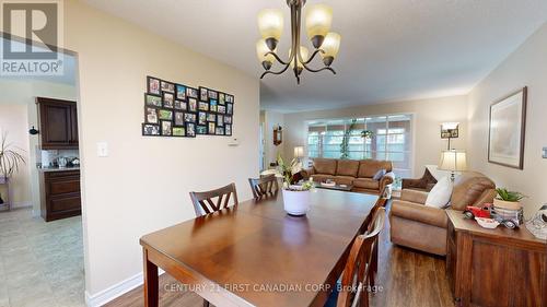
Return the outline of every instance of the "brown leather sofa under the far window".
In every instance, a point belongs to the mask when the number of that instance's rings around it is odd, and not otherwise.
[[[338,185],[353,186],[351,191],[380,193],[395,178],[392,168],[391,161],[314,158],[313,167],[305,172],[316,182],[331,179]],[[372,179],[381,169],[385,169],[385,175],[380,180]]]

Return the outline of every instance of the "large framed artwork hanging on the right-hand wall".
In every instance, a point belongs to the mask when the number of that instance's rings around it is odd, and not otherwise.
[[[524,168],[527,87],[490,106],[488,162]]]

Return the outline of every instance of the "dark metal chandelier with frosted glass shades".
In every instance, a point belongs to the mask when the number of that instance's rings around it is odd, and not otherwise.
[[[287,0],[287,4],[291,9],[291,48],[289,49],[289,59],[282,60],[277,51],[277,45],[283,32],[283,13],[281,10],[268,9],[263,10],[258,14],[258,28],[263,36],[256,43],[256,54],[263,68],[266,70],[260,79],[267,74],[281,74],[289,67],[294,72],[296,83],[300,84],[300,74],[305,69],[310,72],[319,72],[328,70],[336,74],[336,71],[330,68],[338,49],[340,47],[340,35],[329,32],[333,23],[333,10],[325,4],[314,4],[306,8],[305,11],[305,28],[307,37],[312,42],[314,51],[309,57],[310,51],[306,47],[300,45],[300,29],[302,22],[302,8],[306,0]],[[323,68],[313,69],[309,64],[317,56],[323,58]],[[278,61],[282,64],[279,71],[270,70],[274,62]]]

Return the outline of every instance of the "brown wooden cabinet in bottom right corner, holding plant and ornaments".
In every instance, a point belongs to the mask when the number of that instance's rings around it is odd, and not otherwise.
[[[480,227],[449,215],[446,271],[459,306],[547,306],[547,243],[524,226]]]

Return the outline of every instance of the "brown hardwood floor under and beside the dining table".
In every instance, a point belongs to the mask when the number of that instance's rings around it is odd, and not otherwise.
[[[176,281],[167,274],[160,278],[160,306],[201,307],[202,299],[184,291],[166,291]],[[453,307],[453,297],[445,275],[444,258],[398,247],[389,241],[389,223],[381,234],[379,275],[381,290],[371,295],[371,306]],[[181,288],[181,287],[179,287]],[[108,307],[143,306],[142,287],[117,299]]]

